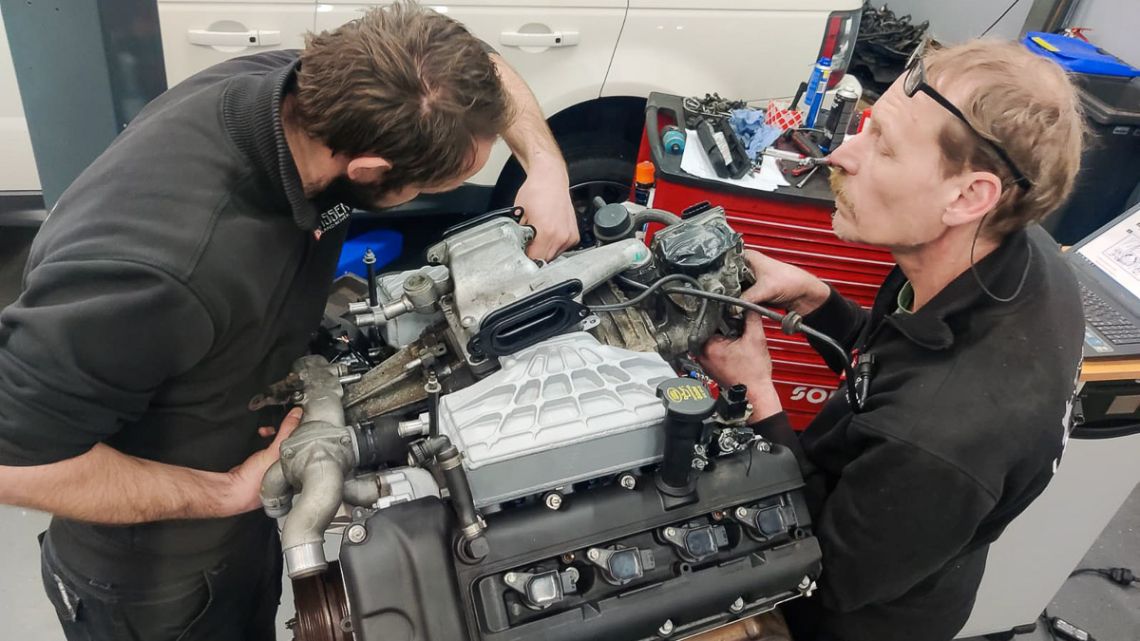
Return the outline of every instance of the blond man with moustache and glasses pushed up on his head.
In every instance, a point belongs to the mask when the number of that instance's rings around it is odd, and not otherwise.
[[[952,639],[988,545],[1056,471],[1084,323],[1056,244],[1027,227],[1068,196],[1082,129],[1065,73],[1017,44],[919,54],[830,157],[836,234],[898,263],[872,309],[750,254],[746,298],[801,315],[869,373],[857,407],[833,395],[797,439],[755,315],[705,349],[805,470],[823,575],[789,611],[797,641]]]

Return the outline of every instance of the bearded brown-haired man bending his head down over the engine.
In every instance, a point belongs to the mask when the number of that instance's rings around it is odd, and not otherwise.
[[[246,404],[306,351],[353,206],[478,171],[499,135],[549,258],[576,240],[534,97],[454,21],[373,9],[303,52],[152,102],[63,194],[0,313],[0,502],[51,512],[43,583],[70,640],[272,639],[259,486],[296,413]]]

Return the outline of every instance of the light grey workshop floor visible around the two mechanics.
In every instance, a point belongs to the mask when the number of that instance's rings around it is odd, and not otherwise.
[[[18,294],[26,244],[31,233],[0,229],[0,308]],[[1140,464],[1140,462],[1138,462]],[[1064,519],[1065,514],[1058,514]],[[48,522],[46,514],[0,506],[0,638],[22,641],[63,641],[51,606],[40,582],[35,535]],[[1123,566],[1140,573],[1140,488],[1134,490],[1081,567]],[[1026,577],[1032,581],[1032,577]],[[279,639],[287,640],[284,622],[292,616],[287,592],[278,616]],[[1070,579],[1054,597],[1049,612],[1086,630],[1097,641],[1140,641],[1140,587],[1123,589],[1102,578]],[[1025,641],[1049,641],[1042,627]],[[915,640],[920,641],[920,640]],[[971,640],[980,641],[980,640]]]

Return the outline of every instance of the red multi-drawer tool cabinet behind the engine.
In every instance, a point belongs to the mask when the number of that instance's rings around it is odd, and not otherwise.
[[[833,201],[824,171],[816,172],[803,188],[781,187],[775,192],[693,177],[681,170],[679,155],[666,154],[661,147],[661,128],[683,121],[679,97],[650,95],[637,160],[651,160],[656,167],[654,208],[679,213],[702,201],[720,205],[732,228],[743,235],[748,249],[803,267],[845,297],[871,306],[894,261],[885,250],[834,236]],[[767,320],[765,326],[776,392],[792,427],[804,429],[838,389],[839,378],[803,336],[789,336]]]

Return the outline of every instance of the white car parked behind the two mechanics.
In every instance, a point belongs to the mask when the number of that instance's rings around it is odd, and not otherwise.
[[[351,0],[158,0],[166,80],[234,56],[301,48],[372,3]],[[861,0],[454,0],[431,5],[494,46],[527,80],[565,155],[576,202],[628,192],[651,91],[790,96],[821,55],[845,70]],[[38,192],[16,78],[0,29],[0,194]],[[841,73],[832,75],[838,81]],[[513,200],[522,171],[499,144],[459,194]],[[473,200],[475,197],[483,200]],[[453,196],[455,197],[455,196]],[[451,201],[453,203],[455,201]],[[2,206],[2,205],[0,205]]]

